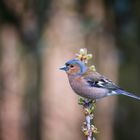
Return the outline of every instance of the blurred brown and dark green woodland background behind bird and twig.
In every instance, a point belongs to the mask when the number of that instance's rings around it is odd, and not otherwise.
[[[79,48],[140,96],[139,0],[0,0],[0,140],[85,140],[78,96],[59,71]],[[140,102],[97,103],[98,140],[140,140]]]

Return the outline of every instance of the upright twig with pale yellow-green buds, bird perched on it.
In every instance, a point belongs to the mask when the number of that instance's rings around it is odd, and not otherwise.
[[[86,48],[80,49],[79,53],[76,54],[76,58],[84,62],[86,65],[88,60],[92,58],[92,54],[87,53]],[[91,65],[88,67],[91,71],[96,71],[95,66]],[[85,121],[82,125],[82,132],[87,137],[87,140],[95,140],[95,135],[99,132],[93,123],[96,101],[79,96],[78,103],[83,106]]]

